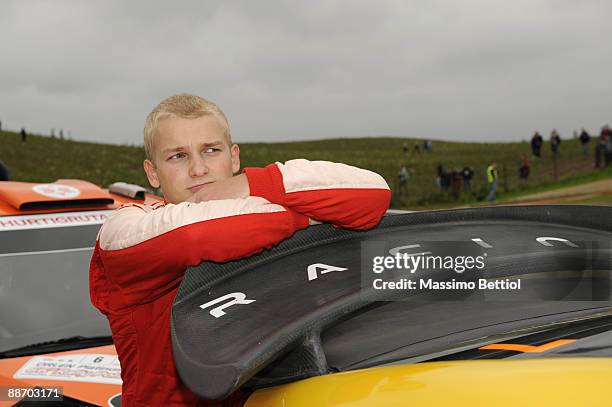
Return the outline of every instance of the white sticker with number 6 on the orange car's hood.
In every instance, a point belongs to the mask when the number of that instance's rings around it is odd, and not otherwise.
[[[117,355],[91,353],[34,356],[15,373],[13,378],[103,384],[122,383],[121,366]]]

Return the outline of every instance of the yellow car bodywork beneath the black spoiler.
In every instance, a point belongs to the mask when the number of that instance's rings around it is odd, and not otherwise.
[[[337,373],[256,391],[245,407],[600,406],[612,358],[428,362]]]

